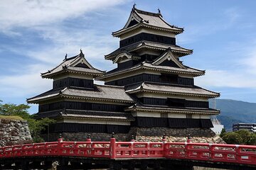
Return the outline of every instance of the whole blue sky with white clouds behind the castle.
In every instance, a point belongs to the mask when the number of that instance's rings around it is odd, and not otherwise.
[[[196,85],[221,93],[220,98],[256,102],[256,1],[0,1],[0,99],[26,103],[51,89],[41,72],[55,67],[65,53],[82,48],[96,68],[115,67],[104,55],[115,50],[111,33],[124,26],[134,2],[185,29],[176,42],[193,49],[183,63],[206,69]],[[37,110],[31,105],[31,113]]]

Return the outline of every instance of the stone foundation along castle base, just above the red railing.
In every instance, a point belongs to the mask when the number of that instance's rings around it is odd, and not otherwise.
[[[86,141],[87,135],[85,132],[63,132],[61,136],[65,141]],[[114,134],[117,141],[130,141],[132,135],[135,140],[142,142],[161,142],[163,134],[166,135],[167,142],[186,142],[188,135],[191,135],[192,142],[203,143],[225,143],[220,137],[210,129],[203,128],[131,128],[129,133]],[[43,138],[48,141],[57,141],[59,133],[52,133],[43,135]],[[92,141],[110,141],[112,134],[110,133],[90,133]]]

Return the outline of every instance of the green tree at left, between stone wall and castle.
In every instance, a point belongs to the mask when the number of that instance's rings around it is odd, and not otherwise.
[[[41,131],[45,130],[46,126],[50,123],[54,123],[55,120],[49,118],[35,119],[35,115],[28,113],[28,108],[30,106],[27,104],[0,103],[0,115],[18,115],[24,120],[27,120],[33,142],[43,142]]]

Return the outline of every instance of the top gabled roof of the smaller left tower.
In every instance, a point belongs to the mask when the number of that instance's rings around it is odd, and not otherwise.
[[[99,77],[104,74],[101,70],[92,67],[92,65],[85,59],[85,55],[82,53],[82,50],[80,50],[80,54],[74,57],[67,58],[66,55],[63,62],[61,62],[57,67],[48,70],[48,72],[41,73],[41,77],[51,79],[64,72],[89,74],[93,77]]]

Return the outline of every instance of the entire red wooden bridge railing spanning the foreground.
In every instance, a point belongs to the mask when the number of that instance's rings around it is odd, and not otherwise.
[[[0,159],[37,156],[191,159],[256,165],[256,146],[188,142],[58,142],[0,147]]]

